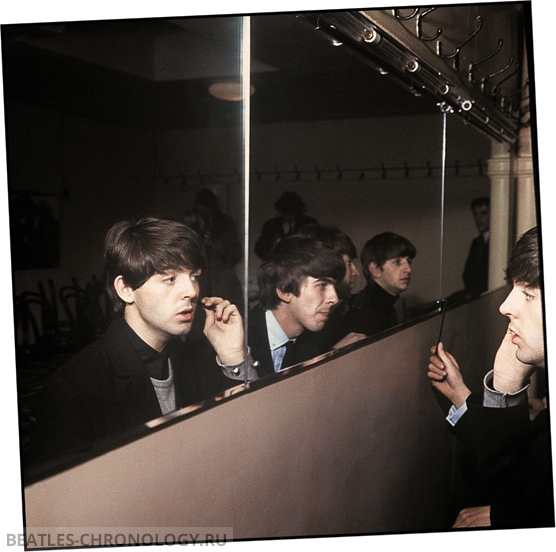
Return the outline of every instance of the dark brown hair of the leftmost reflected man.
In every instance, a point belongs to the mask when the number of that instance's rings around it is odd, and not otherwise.
[[[202,270],[205,248],[199,236],[174,220],[144,218],[114,224],[104,240],[105,281],[114,315],[122,316],[125,302],[114,288],[123,276],[133,289],[140,288],[154,274],[170,269]]]

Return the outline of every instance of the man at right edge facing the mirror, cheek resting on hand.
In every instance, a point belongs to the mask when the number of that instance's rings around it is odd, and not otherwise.
[[[482,390],[471,392],[442,343],[431,348],[428,377],[452,403],[449,428],[474,458],[484,497],[460,511],[454,528],[554,527],[548,403],[532,416],[527,392],[533,373],[545,379],[547,368],[536,228],[514,246],[506,278],[508,329]]]

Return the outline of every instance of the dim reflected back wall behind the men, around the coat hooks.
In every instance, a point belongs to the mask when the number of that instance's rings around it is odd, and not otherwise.
[[[406,302],[411,305],[438,298],[442,133],[440,113],[254,126],[250,158],[250,271],[254,272],[259,263],[252,245],[263,223],[276,215],[275,200],[284,190],[294,190],[307,203],[309,214],[322,224],[339,226],[352,238],[358,251],[373,235],[386,230],[409,238],[418,255]],[[489,193],[485,167],[490,154],[489,140],[464,126],[455,115],[448,118],[447,137],[444,245],[447,268],[443,295],[462,287],[461,272],[476,234],[469,203],[474,197]],[[204,175],[203,185],[212,186],[221,195],[224,210],[234,216],[238,226],[243,219],[241,188],[234,178],[219,175],[241,171],[239,138],[234,129],[164,133],[159,136],[157,156],[158,170],[163,174]],[[479,160],[485,164],[482,175]],[[461,167],[458,176],[453,168],[456,161]],[[466,168],[468,164],[473,166]],[[386,167],[386,178],[380,171],[382,165]],[[410,168],[407,177],[405,165]],[[431,176],[429,165],[433,168]],[[414,167],[422,169],[412,170]],[[299,180],[296,169],[301,174]],[[178,198],[174,205],[181,206],[191,202],[200,185],[200,177],[187,180],[185,185],[175,178],[165,189],[159,189],[158,196]]]

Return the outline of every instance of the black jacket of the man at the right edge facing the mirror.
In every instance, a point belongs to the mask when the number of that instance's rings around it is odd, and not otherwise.
[[[529,405],[482,406],[482,393],[467,400],[468,410],[453,432],[472,453],[479,484],[491,505],[493,528],[554,527],[554,490],[548,412],[529,421]]]

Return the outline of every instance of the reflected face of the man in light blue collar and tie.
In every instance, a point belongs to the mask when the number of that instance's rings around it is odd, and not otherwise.
[[[300,287],[299,296],[289,295],[287,304],[288,337],[296,337],[303,330],[322,330],[330,309],[338,302],[335,282],[332,279],[317,279],[307,276]],[[290,333],[296,335],[290,335]]]

